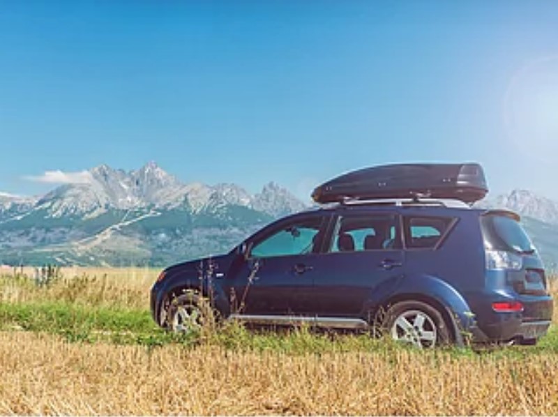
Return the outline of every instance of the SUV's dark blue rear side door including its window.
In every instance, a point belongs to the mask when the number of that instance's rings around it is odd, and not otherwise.
[[[335,218],[315,275],[313,306],[322,317],[359,317],[378,285],[402,277],[396,213],[356,211]]]

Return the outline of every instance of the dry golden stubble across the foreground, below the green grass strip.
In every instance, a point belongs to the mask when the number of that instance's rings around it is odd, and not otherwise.
[[[154,351],[0,334],[0,414],[558,414],[558,357]]]

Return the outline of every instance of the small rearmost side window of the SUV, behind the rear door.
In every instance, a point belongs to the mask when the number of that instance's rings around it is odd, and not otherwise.
[[[435,248],[452,221],[453,218],[406,216],[403,225],[407,248]]]

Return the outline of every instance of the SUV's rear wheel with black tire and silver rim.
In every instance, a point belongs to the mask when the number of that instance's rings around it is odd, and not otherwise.
[[[400,342],[428,349],[451,344],[442,313],[421,301],[401,301],[386,312],[384,331]]]

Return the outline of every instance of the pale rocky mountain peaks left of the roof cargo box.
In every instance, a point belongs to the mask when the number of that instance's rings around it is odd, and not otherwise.
[[[140,169],[126,172],[99,165],[87,171],[86,183],[66,184],[52,190],[38,201],[38,208],[52,217],[86,215],[88,218],[107,210],[137,208],[190,208],[194,213],[214,211],[236,205],[253,208],[273,216],[293,213],[306,208],[285,188],[268,183],[257,195],[233,183],[206,185],[181,183],[176,177],[148,162]]]

